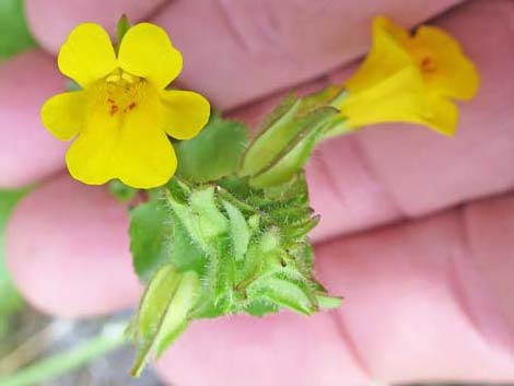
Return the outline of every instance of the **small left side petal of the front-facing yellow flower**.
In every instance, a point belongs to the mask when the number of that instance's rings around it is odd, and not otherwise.
[[[72,139],[82,128],[85,103],[83,91],[50,97],[42,107],[43,126],[60,140]]]

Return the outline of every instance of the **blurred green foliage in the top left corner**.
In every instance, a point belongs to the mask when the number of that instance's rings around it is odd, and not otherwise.
[[[22,0],[0,1],[0,59],[36,46],[23,13]]]

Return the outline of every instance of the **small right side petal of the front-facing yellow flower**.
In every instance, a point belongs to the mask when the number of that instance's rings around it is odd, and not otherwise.
[[[161,93],[164,106],[166,132],[176,139],[190,139],[207,125],[210,115],[209,102],[191,91],[164,91]]]

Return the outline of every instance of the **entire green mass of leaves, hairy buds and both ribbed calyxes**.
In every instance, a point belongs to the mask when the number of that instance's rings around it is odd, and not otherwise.
[[[129,329],[139,346],[132,374],[195,319],[340,305],[313,276],[307,235],[319,219],[303,173],[340,124],[327,101],[288,98],[249,144],[244,125],[215,114],[175,143],[176,176],[130,212],[133,266],[147,283]]]

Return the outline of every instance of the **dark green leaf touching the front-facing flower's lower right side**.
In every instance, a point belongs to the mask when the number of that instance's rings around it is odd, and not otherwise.
[[[247,142],[243,124],[213,115],[191,140],[176,144],[177,175],[192,183],[206,183],[234,173]]]

